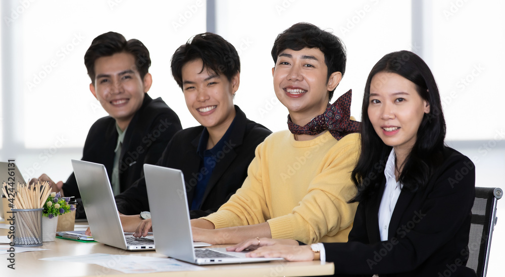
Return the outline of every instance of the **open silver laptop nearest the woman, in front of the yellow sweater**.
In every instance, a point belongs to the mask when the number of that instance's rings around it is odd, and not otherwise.
[[[225,248],[193,248],[189,208],[180,170],[144,164],[156,252],[194,263],[246,263],[282,260],[282,258],[249,258],[245,252],[227,252]]]

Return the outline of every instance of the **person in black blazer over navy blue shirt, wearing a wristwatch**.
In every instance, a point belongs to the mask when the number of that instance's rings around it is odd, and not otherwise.
[[[157,164],[183,172],[190,217],[198,218],[216,211],[242,186],[256,146],[271,132],[248,120],[233,104],[240,60],[233,45],[221,36],[194,36],[175,51],[171,67],[189,112],[201,126],[175,134]],[[139,227],[146,234],[150,219],[139,216],[149,209],[145,179],[118,195],[116,203],[124,213],[124,231]]]

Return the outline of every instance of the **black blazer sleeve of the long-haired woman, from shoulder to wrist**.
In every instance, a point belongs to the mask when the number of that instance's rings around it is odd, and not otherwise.
[[[324,243],[326,261],[334,262],[335,273],[408,272],[440,251],[462,228],[475,197],[475,167],[468,157],[461,154],[449,157],[443,168],[427,187],[431,191],[412,217],[412,224],[398,228],[388,241],[368,244],[359,239],[363,231],[357,229],[351,232],[354,241]],[[458,174],[462,169],[468,170],[468,174],[461,179]],[[360,226],[363,221],[358,219],[355,228]]]

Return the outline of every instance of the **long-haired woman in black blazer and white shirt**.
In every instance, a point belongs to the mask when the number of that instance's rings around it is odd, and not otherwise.
[[[352,172],[359,201],[346,243],[298,246],[249,240],[249,256],[333,262],[335,275],[475,276],[467,268],[475,166],[444,145],[445,120],[434,77],[410,51],[372,69],[362,110],[361,154]],[[265,246],[265,247],[263,247]]]

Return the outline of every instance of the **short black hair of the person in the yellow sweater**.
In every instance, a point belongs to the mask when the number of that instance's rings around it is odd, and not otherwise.
[[[340,72],[342,76],[344,75],[347,54],[343,42],[334,34],[306,22],[296,23],[277,36],[272,47],[274,63],[277,63],[277,57],[283,50],[299,51],[306,47],[319,48],[323,52],[324,62],[328,68],[326,82],[333,72]],[[328,99],[333,97],[333,91],[329,91]]]

